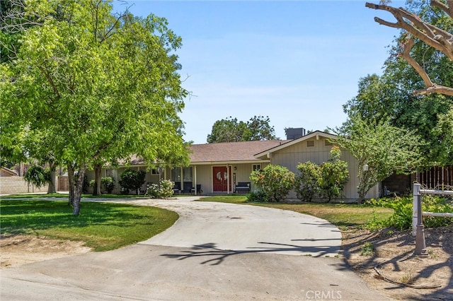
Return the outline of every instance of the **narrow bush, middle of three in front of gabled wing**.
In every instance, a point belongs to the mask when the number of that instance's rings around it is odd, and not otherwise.
[[[311,201],[313,196],[319,192],[319,182],[321,180],[321,168],[316,163],[307,161],[297,165],[294,190],[297,198],[302,201]]]

